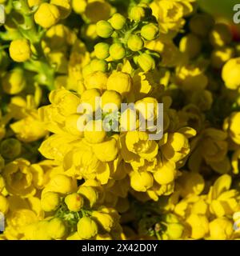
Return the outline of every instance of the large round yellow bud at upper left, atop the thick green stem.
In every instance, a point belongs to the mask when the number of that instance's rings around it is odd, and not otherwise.
[[[42,2],[34,14],[35,22],[46,29],[54,26],[60,18],[58,7],[47,2]]]

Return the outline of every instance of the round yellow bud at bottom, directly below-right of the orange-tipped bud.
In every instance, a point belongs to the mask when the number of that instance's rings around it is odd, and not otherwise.
[[[98,234],[98,226],[89,217],[83,217],[78,222],[78,235],[82,239],[90,239]]]

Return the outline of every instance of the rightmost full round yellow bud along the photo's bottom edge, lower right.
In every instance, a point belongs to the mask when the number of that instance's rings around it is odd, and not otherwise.
[[[210,222],[210,239],[226,240],[230,239],[234,232],[233,223],[228,218],[215,218]]]

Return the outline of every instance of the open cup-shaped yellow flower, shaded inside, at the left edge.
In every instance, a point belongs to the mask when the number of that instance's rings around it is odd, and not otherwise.
[[[2,176],[6,181],[6,189],[15,195],[29,197],[36,193],[30,162],[17,159],[4,167]]]

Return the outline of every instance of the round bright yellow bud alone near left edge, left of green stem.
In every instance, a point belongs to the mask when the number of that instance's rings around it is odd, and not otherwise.
[[[16,39],[10,43],[10,58],[15,62],[26,62],[30,59],[30,43],[26,39]]]

